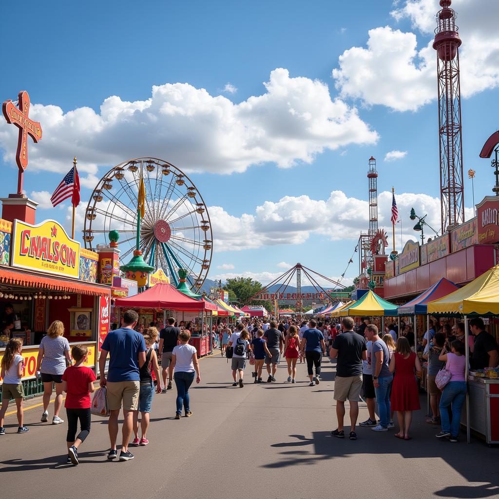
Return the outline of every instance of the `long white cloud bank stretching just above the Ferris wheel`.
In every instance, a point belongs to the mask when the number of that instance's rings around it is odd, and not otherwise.
[[[99,112],[32,104],[30,116],[41,122],[43,139],[29,145],[31,170],[65,172],[76,155],[81,184],[93,187],[98,166],[141,156],[187,172],[228,174],[264,162],[289,168],[311,163],[325,149],[378,140],[356,108],[332,98],[321,81],[278,68],[264,87],[239,104],[188,83],[153,86],[142,101],[111,96]],[[16,145],[17,128],[0,120],[5,162],[13,162]]]

